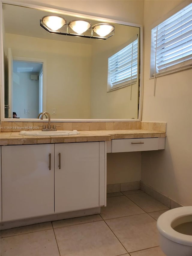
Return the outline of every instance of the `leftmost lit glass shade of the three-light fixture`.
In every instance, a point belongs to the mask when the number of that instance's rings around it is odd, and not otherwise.
[[[59,16],[45,16],[42,22],[51,30],[58,30],[66,24],[66,20]]]

